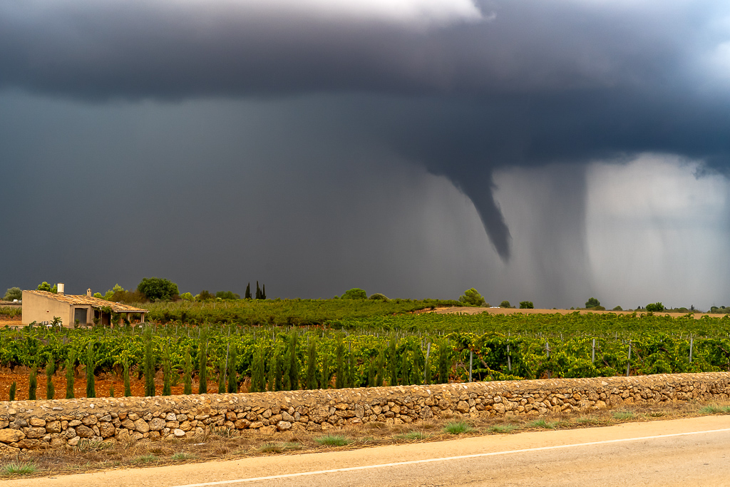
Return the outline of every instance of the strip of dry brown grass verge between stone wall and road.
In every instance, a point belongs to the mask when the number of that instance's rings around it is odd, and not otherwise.
[[[68,450],[37,450],[14,454],[12,462],[0,463],[0,478],[23,475],[33,478],[95,472],[110,468],[158,467],[181,462],[244,459],[265,455],[296,455],[331,448],[367,448],[407,442],[452,440],[458,434],[515,434],[549,429],[610,426],[636,421],[661,421],[691,418],[708,414],[730,413],[726,403],[652,404],[651,407],[622,407],[580,414],[556,413],[544,416],[508,415],[503,418],[431,418],[414,423],[364,423],[348,425],[328,432],[260,433],[255,430],[202,434],[180,440],[82,443]],[[216,431],[215,433],[218,433]],[[25,473],[16,473],[9,465],[28,464]],[[11,473],[11,470],[13,473]]]

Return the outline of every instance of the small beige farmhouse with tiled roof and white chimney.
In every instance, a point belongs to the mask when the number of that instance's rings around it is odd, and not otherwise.
[[[68,327],[76,323],[111,325],[112,313],[118,313],[120,320],[126,318],[134,323],[134,320],[139,319],[144,323],[147,310],[95,298],[91,296],[91,289],[86,291],[86,296],[64,294],[63,284],[58,284],[57,294],[48,291],[23,291],[23,325],[34,321],[50,323],[56,317],[61,318],[61,324]]]

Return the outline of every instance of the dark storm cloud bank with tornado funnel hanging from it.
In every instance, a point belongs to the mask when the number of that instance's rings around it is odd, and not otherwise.
[[[0,87],[94,102],[359,93],[343,119],[449,177],[505,259],[496,167],[647,150],[728,166],[726,2],[305,4],[7,1]]]

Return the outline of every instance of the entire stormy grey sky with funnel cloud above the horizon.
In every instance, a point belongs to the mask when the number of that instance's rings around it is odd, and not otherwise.
[[[0,45],[4,288],[730,304],[726,1],[8,0]]]

